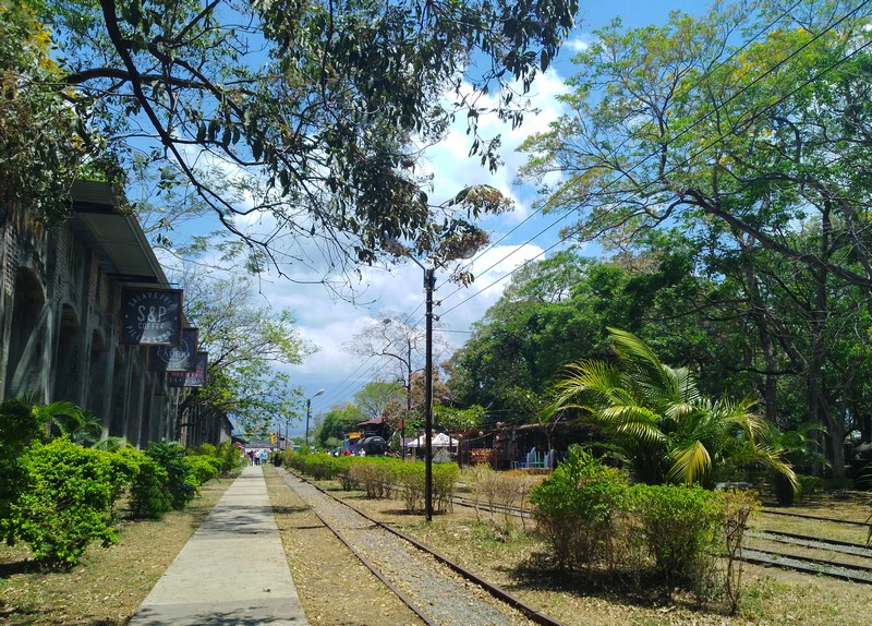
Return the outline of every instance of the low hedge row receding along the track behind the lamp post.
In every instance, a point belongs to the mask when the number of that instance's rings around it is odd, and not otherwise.
[[[391,457],[332,457],[323,453],[284,453],[282,462],[316,480],[339,480],[342,489],[361,489],[367,497],[393,497],[405,509],[419,513],[425,506],[426,469],[424,461],[403,461]],[[433,464],[433,509],[451,509],[460,469],[453,464]]]

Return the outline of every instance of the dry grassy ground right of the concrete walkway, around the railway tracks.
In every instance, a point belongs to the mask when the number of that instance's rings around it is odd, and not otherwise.
[[[368,570],[351,565],[348,550],[319,527],[317,518],[299,508],[299,499],[290,490],[271,478],[268,483],[274,504],[283,503],[281,506],[287,507],[287,511],[278,513],[277,520],[313,625],[415,623],[413,616],[403,617],[404,610],[391,601]],[[689,598],[658,603],[631,598],[621,589],[594,590],[581,578],[543,568],[536,555],[547,552],[547,546],[502,516],[479,517],[474,509],[456,506],[453,513],[437,516],[427,525],[421,516],[407,514],[398,501],[367,499],[361,493],[341,492],[329,482],[320,484],[566,625],[867,626],[867,615],[872,612],[872,594],[867,585],[753,565],[744,566],[744,594],[739,613],[732,616],[712,607],[701,609]],[[818,498],[790,510],[862,521],[868,517],[869,505],[864,498]],[[833,515],[833,510],[837,513]],[[772,526],[772,519],[777,518],[760,518],[763,526]],[[808,523],[797,527],[798,531],[809,530]],[[861,535],[864,539],[859,527],[850,534],[855,541],[860,541]],[[343,580],[341,586],[337,585],[339,579]]]

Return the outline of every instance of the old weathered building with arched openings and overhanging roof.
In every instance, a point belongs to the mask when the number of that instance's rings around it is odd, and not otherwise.
[[[137,447],[229,441],[219,414],[199,424],[201,441],[185,441],[194,431],[180,423],[180,389],[149,371],[147,346],[120,340],[122,289],[170,288],[136,217],[107,183],[80,181],[72,195],[53,228],[0,207],[0,400],[35,392],[72,401]]]

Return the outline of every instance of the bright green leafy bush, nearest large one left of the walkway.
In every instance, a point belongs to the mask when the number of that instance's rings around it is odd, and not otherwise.
[[[26,486],[12,504],[13,540],[37,561],[72,566],[92,541],[117,541],[114,505],[134,469],[120,455],[68,438],[35,443],[22,456]]]

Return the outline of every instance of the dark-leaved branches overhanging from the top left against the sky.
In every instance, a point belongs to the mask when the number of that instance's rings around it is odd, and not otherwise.
[[[501,209],[488,189],[432,206],[417,155],[465,113],[472,154],[495,167],[499,140],[479,134],[480,116],[521,123],[519,96],[554,59],[578,5],[218,0],[168,10],[160,0],[47,0],[39,9],[57,34],[58,92],[88,112],[86,139],[105,137],[121,170],[137,156],[161,164],[168,184],[190,185],[250,245],[255,265],[269,258],[281,272],[291,255],[308,258],[313,239],[334,264],[368,263],[385,241],[427,251],[475,230],[468,220],[480,212]],[[262,230],[246,226],[254,215]]]

